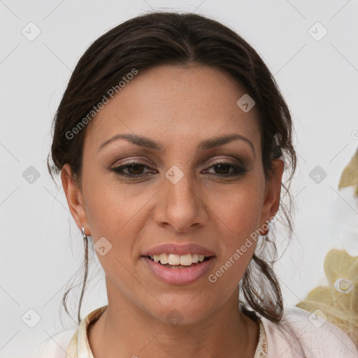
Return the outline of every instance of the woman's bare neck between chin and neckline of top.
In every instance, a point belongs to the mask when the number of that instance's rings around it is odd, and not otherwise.
[[[113,298],[113,297],[112,297]],[[159,322],[130,301],[110,299],[90,326],[94,358],[252,358],[259,326],[238,308],[238,292],[208,317],[187,324]]]

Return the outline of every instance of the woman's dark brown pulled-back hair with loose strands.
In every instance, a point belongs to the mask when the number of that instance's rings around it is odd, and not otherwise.
[[[78,131],[75,139],[69,139],[66,133],[76,127],[123,76],[133,69],[141,73],[161,64],[185,66],[192,63],[212,66],[228,73],[255,100],[265,179],[272,171],[272,159],[280,155],[285,158],[285,169],[290,169],[288,185],[281,183],[285,191],[283,196],[289,196],[289,207],[281,200],[280,209],[291,238],[292,199],[289,183],[296,169],[296,152],[292,145],[293,128],[289,109],[271,72],[252,46],[235,31],[202,15],[146,13],[110,29],[90,45],[72,73],[52,123],[53,141],[49,154],[52,165],[48,158],[51,176],[69,163],[73,178],[81,187],[85,128]],[[274,236],[275,233],[272,231],[271,234]],[[245,299],[243,309],[246,314],[258,313],[271,322],[280,322],[283,315],[282,295],[272,269],[277,250],[275,240],[268,236],[266,239],[266,245],[271,245],[272,255],[264,259],[256,252],[239,288]],[[78,322],[87,280],[87,255],[88,243],[85,241],[85,280],[78,307]],[[68,293],[69,290],[62,301],[67,313]]]

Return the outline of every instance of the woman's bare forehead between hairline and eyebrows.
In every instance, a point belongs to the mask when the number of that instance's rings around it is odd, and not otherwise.
[[[165,145],[194,145],[220,134],[250,138],[259,149],[255,107],[243,112],[245,94],[227,73],[208,66],[157,66],[138,71],[88,124],[85,146],[131,133]]]

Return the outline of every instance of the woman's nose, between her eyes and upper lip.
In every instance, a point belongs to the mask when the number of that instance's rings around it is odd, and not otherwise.
[[[205,198],[189,173],[173,183],[164,177],[157,196],[154,219],[160,227],[189,233],[208,220]]]

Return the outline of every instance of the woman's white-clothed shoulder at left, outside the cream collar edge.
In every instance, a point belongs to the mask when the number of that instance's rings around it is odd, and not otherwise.
[[[64,329],[41,341],[35,346],[34,356],[31,358],[66,358],[67,348],[77,330],[78,326]]]

